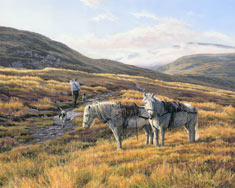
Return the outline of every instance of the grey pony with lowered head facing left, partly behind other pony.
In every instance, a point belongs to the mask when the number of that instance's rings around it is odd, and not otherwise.
[[[145,110],[142,109],[142,111]],[[122,148],[121,137],[123,132],[123,126],[126,121],[128,121],[127,128],[134,128],[137,125],[138,128],[144,128],[145,132],[147,133],[147,137],[153,137],[151,126],[148,121],[142,120],[144,118],[130,117],[126,119],[122,116],[120,103],[100,102],[86,106],[84,109],[82,126],[84,128],[91,127],[95,122],[95,118],[98,118],[99,120],[108,124],[109,128],[114,134],[115,139],[118,142],[118,148]]]

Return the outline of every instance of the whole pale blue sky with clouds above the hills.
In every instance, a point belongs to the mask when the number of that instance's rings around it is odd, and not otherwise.
[[[142,67],[235,52],[234,20],[234,0],[0,0],[0,26]]]

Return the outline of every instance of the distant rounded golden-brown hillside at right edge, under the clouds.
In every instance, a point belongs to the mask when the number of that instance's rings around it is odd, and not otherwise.
[[[157,68],[157,71],[235,89],[235,53],[184,56],[173,63]]]

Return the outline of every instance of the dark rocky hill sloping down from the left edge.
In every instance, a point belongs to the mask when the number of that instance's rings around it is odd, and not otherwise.
[[[0,27],[0,66],[27,69],[55,67],[93,73],[129,74],[163,80],[175,79],[156,71],[117,61],[91,59],[43,35],[9,27]]]

